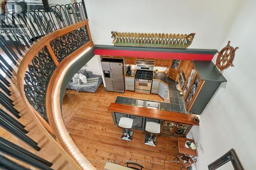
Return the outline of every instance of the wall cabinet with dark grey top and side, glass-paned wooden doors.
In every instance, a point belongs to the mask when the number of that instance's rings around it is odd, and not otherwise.
[[[192,61],[193,67],[183,89],[186,110],[201,114],[210,99],[226,79],[211,61]]]

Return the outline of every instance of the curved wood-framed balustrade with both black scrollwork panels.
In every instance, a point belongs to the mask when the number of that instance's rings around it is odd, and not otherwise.
[[[57,30],[37,42],[25,55],[19,68],[23,93],[35,114],[51,132],[46,111],[48,83],[55,68],[79,47],[92,43],[88,20]],[[21,72],[24,71],[24,72]],[[49,125],[47,125],[49,124]]]

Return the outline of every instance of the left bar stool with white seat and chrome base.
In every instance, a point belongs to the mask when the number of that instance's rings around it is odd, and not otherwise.
[[[133,119],[121,117],[118,126],[123,128],[121,139],[131,141],[133,138],[133,131],[130,129],[133,127]]]

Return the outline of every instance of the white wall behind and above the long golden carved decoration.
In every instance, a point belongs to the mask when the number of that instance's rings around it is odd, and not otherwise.
[[[196,33],[191,48],[219,49],[240,1],[85,0],[85,2],[95,44],[112,44],[111,31]]]

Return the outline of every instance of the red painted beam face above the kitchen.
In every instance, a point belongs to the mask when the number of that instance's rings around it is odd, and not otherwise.
[[[159,59],[179,59],[179,60],[202,60],[211,61],[212,54],[195,54],[195,53],[168,53],[168,52],[150,52],[150,51],[131,51],[131,50],[108,50],[94,49],[95,55],[106,56],[125,56],[125,57],[142,57],[142,58],[159,58]]]

